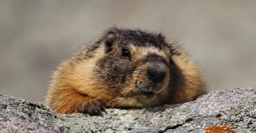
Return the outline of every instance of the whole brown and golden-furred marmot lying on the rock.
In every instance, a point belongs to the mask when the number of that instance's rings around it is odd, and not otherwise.
[[[59,64],[46,104],[59,114],[102,114],[194,101],[207,93],[197,63],[160,32],[110,27]]]

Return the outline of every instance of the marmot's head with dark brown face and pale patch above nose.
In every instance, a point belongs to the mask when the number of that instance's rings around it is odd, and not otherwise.
[[[167,95],[167,88],[180,76],[171,45],[162,34],[114,27],[87,47],[81,58],[91,60],[79,75],[90,76],[95,87],[91,95],[107,90],[104,95],[150,101]],[[87,69],[93,72],[85,74]]]

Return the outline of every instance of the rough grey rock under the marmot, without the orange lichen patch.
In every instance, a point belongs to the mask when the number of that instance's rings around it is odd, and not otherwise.
[[[0,133],[203,133],[215,124],[236,126],[235,133],[256,131],[251,88],[211,91],[179,105],[106,111],[93,117],[61,115],[42,103],[0,94]]]

